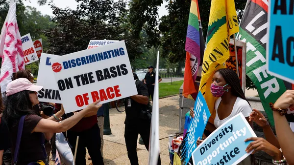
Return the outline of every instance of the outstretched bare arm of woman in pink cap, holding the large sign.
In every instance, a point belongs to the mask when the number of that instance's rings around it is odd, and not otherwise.
[[[32,132],[44,132],[44,133],[46,133],[46,132],[56,132],[56,133],[57,132],[65,132],[68,129],[70,129],[71,127],[73,127],[75,124],[77,124],[78,121],[80,121],[88,113],[93,113],[93,111],[95,111],[97,113],[98,109],[102,106],[102,104],[96,105],[99,102],[100,101],[97,101],[95,103],[91,103],[85,109],[77,112],[72,117],[70,117],[60,123],[53,122],[48,119],[41,119],[40,122],[35,126],[35,128],[33,129]]]

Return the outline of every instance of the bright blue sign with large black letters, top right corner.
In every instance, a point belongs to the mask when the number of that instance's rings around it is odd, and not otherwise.
[[[294,30],[289,24],[294,20],[293,1],[270,0],[269,2],[268,73],[294,83]],[[274,81],[270,83],[273,84]]]

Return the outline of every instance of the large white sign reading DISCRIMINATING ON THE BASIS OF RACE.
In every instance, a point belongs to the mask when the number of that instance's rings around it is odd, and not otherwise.
[[[66,113],[137,95],[124,41],[51,59]]]

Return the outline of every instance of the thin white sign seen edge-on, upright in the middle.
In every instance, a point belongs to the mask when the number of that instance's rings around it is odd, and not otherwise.
[[[152,107],[151,129],[150,129],[150,143],[149,143],[149,164],[157,165],[159,156],[159,91],[158,91],[158,70],[159,70],[159,51],[157,53],[154,97]]]

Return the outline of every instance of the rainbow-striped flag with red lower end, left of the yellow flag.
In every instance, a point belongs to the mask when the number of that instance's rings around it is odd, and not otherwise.
[[[204,40],[197,0],[191,1],[185,50],[187,53],[183,95],[195,100],[201,77],[198,68],[202,65],[201,59],[204,54]]]

